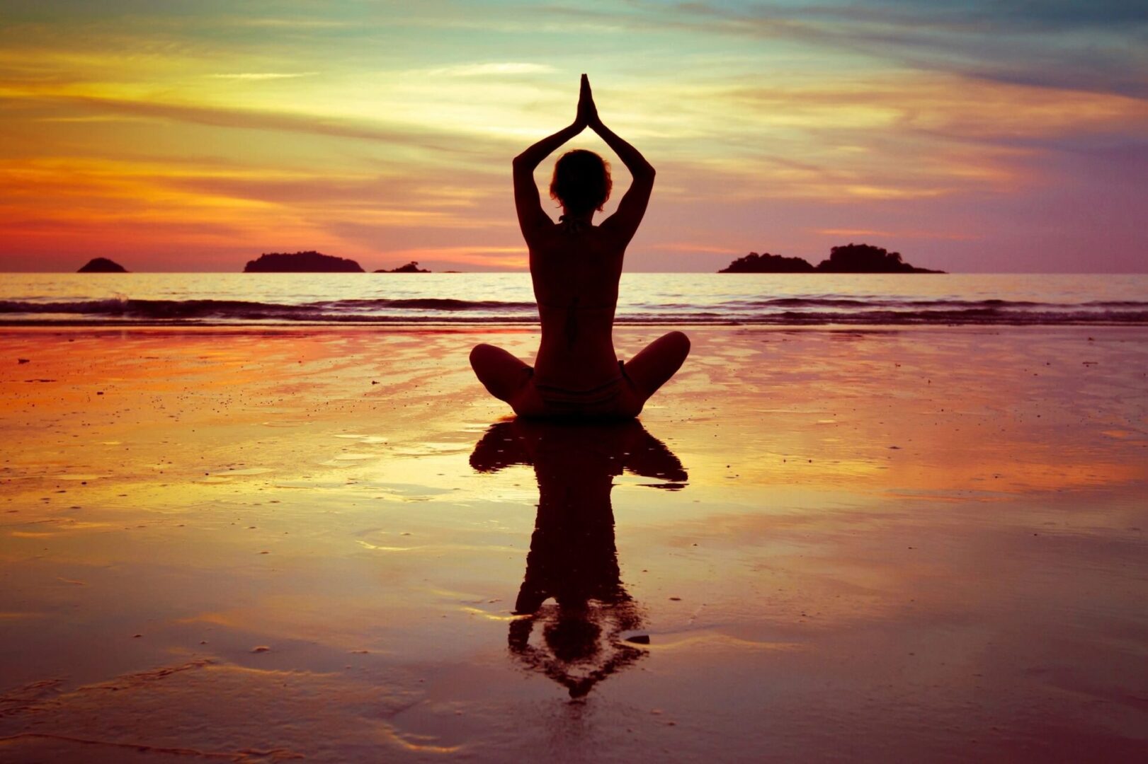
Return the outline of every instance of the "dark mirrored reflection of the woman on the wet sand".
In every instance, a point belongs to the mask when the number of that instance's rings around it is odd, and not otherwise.
[[[614,545],[613,477],[629,471],[677,490],[682,462],[636,420],[490,427],[471,454],[483,473],[533,466],[538,516],[526,577],[514,603],[514,656],[566,687],[571,697],[638,661],[645,650],[641,606],[622,585]],[[545,605],[553,599],[553,605]],[[540,629],[535,629],[535,626]],[[534,639],[532,640],[532,637]]]

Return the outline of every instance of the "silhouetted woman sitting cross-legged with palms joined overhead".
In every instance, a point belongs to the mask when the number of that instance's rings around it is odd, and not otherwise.
[[[550,195],[564,212],[556,225],[540,203],[534,169],[587,127],[621,157],[634,182],[618,211],[595,226],[595,211],[610,197],[610,167],[592,151],[563,155],[550,184]],[[471,366],[490,395],[509,403],[515,413],[636,416],[685,360],[690,341],[681,332],[650,343],[625,366],[614,352],[622,257],[645,215],[653,177],[653,167],[638,150],[602,124],[585,75],[574,123],[514,157],[514,204],[530,250],[542,342],[534,368],[487,344],[471,351]]]

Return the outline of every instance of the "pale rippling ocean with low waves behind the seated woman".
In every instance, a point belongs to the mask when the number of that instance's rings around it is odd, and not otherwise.
[[[532,325],[527,273],[11,273],[5,326]],[[1146,325],[1148,274],[627,273],[616,323]]]

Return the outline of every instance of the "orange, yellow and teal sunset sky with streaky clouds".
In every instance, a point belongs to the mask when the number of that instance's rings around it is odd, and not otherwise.
[[[627,270],[1148,270],[1142,0],[6,0],[0,270],[523,268],[581,72],[658,169]]]

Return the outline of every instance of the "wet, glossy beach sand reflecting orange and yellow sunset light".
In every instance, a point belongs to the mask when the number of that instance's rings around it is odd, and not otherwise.
[[[1148,330],[690,334],[5,330],[0,761],[1142,756]]]

